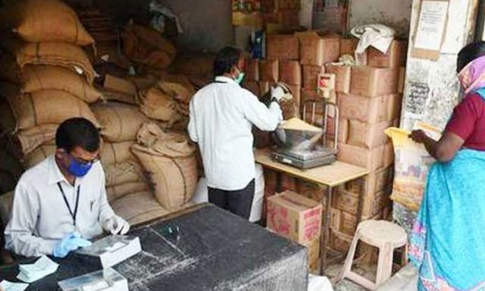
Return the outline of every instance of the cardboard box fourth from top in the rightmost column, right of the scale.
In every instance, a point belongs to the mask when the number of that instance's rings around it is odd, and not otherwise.
[[[362,123],[359,120],[348,120],[348,140],[351,146],[360,148],[376,148],[384,146],[390,141],[389,136],[384,133],[388,127],[392,127],[393,120],[382,123]]]

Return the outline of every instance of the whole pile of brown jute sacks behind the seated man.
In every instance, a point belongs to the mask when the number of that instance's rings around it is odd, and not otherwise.
[[[10,40],[3,42],[5,53],[1,61],[11,70],[0,72],[3,81],[0,125],[9,148],[15,151],[24,168],[54,153],[54,135],[59,123],[84,117],[100,128],[107,196],[115,212],[130,223],[139,223],[184,207],[198,178],[193,147],[183,134],[171,139],[158,138],[157,143],[148,141],[153,136],[172,135],[160,125],[170,129],[175,123],[172,118],[180,121],[183,118],[178,114],[188,116],[188,102],[194,88],[182,77],[171,76],[160,81],[155,76],[147,82],[144,77],[127,74],[124,78],[112,79],[115,84],[119,83],[117,80],[131,86],[130,98],[118,98],[128,102],[106,102],[119,94],[93,85],[98,76],[85,51],[94,41],[75,11],[59,0],[8,2],[1,10],[2,26],[13,33]],[[155,45],[143,51],[137,49],[138,45],[134,45],[135,51],[129,57],[144,70],[151,66],[155,70],[166,68],[174,58],[172,54],[162,56],[162,49]],[[167,47],[173,52],[171,45]],[[132,81],[127,83],[130,78]],[[176,104],[176,113],[167,115],[167,111],[159,108],[163,104],[160,99],[166,99],[165,96],[141,102],[147,99],[137,86],[144,90],[152,86],[160,88]],[[123,90],[126,91],[126,86]],[[151,130],[146,129],[148,125]],[[184,142],[187,147],[178,152],[178,145]],[[172,151],[159,150],[163,147]],[[167,186],[167,181],[176,182]]]

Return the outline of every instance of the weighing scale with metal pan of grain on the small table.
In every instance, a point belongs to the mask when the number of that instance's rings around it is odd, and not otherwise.
[[[336,160],[337,141],[333,147],[328,143],[328,118],[333,109],[334,130],[333,136],[339,136],[339,109],[336,104],[326,100],[309,100],[305,102],[303,109],[303,120],[306,119],[307,105],[311,105],[311,123],[315,123],[315,112],[317,106],[323,106],[323,125],[321,132],[310,132],[295,129],[277,129],[275,136],[278,148],[272,153],[275,161],[294,166],[296,168],[315,168],[332,164]],[[323,140],[321,145],[318,141]]]

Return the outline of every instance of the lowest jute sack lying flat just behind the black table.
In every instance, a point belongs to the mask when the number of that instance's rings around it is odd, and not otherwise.
[[[116,214],[123,217],[132,226],[163,217],[169,214],[149,191],[137,192],[125,195],[122,198],[111,201],[111,207]]]

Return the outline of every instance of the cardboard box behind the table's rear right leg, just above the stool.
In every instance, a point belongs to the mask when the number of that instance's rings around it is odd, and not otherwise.
[[[336,194],[332,199],[332,207],[354,216],[357,215],[359,194],[348,192],[342,189],[337,189],[335,192]],[[391,203],[391,192],[392,185],[388,185],[384,191],[364,196],[362,217],[374,217],[382,212],[382,210]]]

